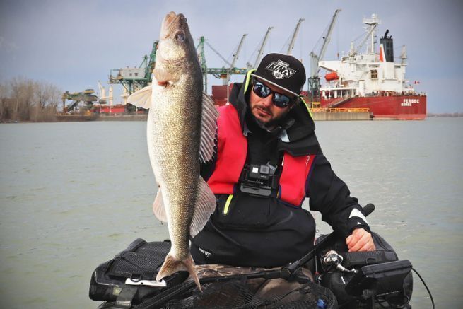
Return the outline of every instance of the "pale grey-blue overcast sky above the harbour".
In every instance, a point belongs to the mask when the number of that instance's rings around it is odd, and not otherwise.
[[[348,52],[351,40],[364,33],[362,18],[376,13],[398,56],[406,45],[406,78],[419,81],[416,91],[428,95],[428,112],[463,112],[463,1],[459,0],[1,0],[0,83],[16,76],[46,81],[62,91],[107,88],[110,69],[140,66],[158,40],[166,13],[184,13],[195,40],[204,36],[230,62],[247,34],[238,67],[254,62],[264,34],[273,26],[265,53],[284,52],[299,18],[305,18],[293,55],[310,71],[309,54],[320,49],[320,37],[336,8],[332,40],[325,60]],[[209,67],[225,65],[206,47]],[[232,81],[242,81],[233,76]],[[209,76],[209,84],[221,81]],[[115,85],[115,103],[122,86]],[[304,88],[307,88],[307,83]]]

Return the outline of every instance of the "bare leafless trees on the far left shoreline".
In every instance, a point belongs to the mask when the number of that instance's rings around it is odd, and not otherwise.
[[[0,83],[0,122],[55,121],[62,93],[52,83],[25,77]]]

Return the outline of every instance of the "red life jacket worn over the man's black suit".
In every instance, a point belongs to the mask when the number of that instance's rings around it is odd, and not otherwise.
[[[247,139],[242,134],[238,112],[233,105],[219,107],[218,153],[216,167],[208,180],[214,194],[233,194],[242,169],[245,167]],[[284,202],[300,206],[305,198],[305,183],[315,155],[291,156],[285,151],[278,197]]]

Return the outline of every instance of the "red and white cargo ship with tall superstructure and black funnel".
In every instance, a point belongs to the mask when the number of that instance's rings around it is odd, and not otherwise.
[[[426,118],[426,93],[416,93],[405,79],[406,48],[402,47],[400,62],[394,62],[394,45],[389,30],[375,49],[376,14],[363,18],[366,25],[361,45],[351,48],[348,55],[336,61],[320,61],[326,69],[327,83],[320,88],[320,108],[368,108],[373,119],[417,120]],[[359,52],[368,42],[365,52]],[[414,82],[418,83],[418,82]],[[319,104],[314,103],[313,107]]]

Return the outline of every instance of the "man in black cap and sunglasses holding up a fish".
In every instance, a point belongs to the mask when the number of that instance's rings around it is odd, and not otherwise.
[[[197,264],[276,267],[303,257],[315,238],[305,197],[349,251],[375,250],[361,206],[321,151],[299,98],[304,83],[298,59],[268,54],[220,107],[216,155],[201,167],[217,209],[192,238]]]

